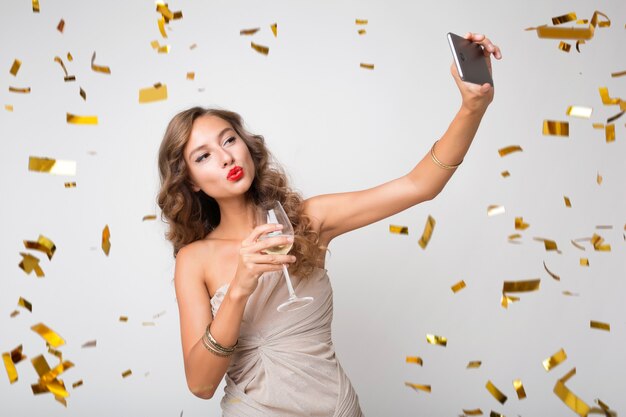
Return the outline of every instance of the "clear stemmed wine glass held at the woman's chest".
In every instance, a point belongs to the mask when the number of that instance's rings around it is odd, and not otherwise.
[[[280,201],[273,201],[267,205],[262,205],[258,212],[257,223],[276,223],[283,225],[282,230],[276,230],[270,233],[266,233],[259,237],[259,240],[265,240],[277,236],[293,236],[293,226],[291,225],[291,221],[289,220],[289,217],[287,217],[283,206],[280,204]],[[293,243],[272,246],[271,248],[265,249],[264,253],[274,255],[286,255],[289,253],[292,246]],[[289,276],[289,272],[287,271],[287,265],[285,264],[283,264],[283,275],[285,276],[285,281],[287,281],[289,299],[279,305],[277,310],[281,312],[294,311],[309,305],[309,303],[313,301],[313,297],[296,296],[296,292],[293,290],[293,285],[291,284],[291,277]]]

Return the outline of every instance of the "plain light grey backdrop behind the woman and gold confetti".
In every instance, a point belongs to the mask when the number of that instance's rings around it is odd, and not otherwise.
[[[590,405],[600,398],[624,412],[626,120],[617,120],[617,140],[610,144],[591,127],[618,111],[602,105],[598,87],[626,96],[626,77],[610,76],[626,70],[624,2],[169,5],[184,18],[172,21],[169,38],[162,39],[153,1],[41,0],[39,14],[27,0],[3,4],[0,104],[14,111],[0,109],[0,351],[23,344],[28,359],[17,365],[17,383],[0,377],[1,415],[220,415],[221,388],[210,401],[187,390],[171,246],[160,222],[142,222],[158,213],[156,158],[166,123],[191,105],[232,109],[265,136],[305,197],[369,188],[407,173],[459,108],[448,31],[484,32],[501,46],[495,100],[443,193],[332,243],[327,268],[338,357],[368,416],[454,416],[463,408],[574,415],[552,393],[572,367],[577,375],[568,387],[574,393]],[[564,53],[557,40],[524,31],[572,11],[590,19],[594,10],[612,25],[597,29],[581,53],[573,47]],[[56,30],[61,18],[63,34]],[[364,36],[357,34],[357,18],[369,19]],[[269,28],[274,22],[277,38]],[[239,35],[251,27],[261,30]],[[158,55],[150,47],[155,39],[170,44],[171,52]],[[251,40],[269,46],[269,55],[252,50]],[[90,69],[93,51],[111,75]],[[56,55],[76,82],[63,82]],[[9,74],[15,58],[23,62],[17,77]],[[376,68],[362,69],[360,62]],[[188,71],[195,71],[195,81],[185,79]],[[167,101],[139,104],[138,90],[156,82],[167,85]],[[8,86],[30,86],[32,93],[9,93]],[[569,105],[593,107],[592,118],[566,116]],[[68,125],[66,112],[97,115],[99,124]],[[544,119],[568,120],[569,138],[543,136]],[[497,150],[508,145],[524,151],[500,158]],[[31,155],[75,160],[77,175],[30,172]],[[502,178],[503,170],[511,177]],[[65,189],[65,181],[77,187]],[[490,204],[506,213],[488,217]],[[422,250],[417,241],[429,214],[437,224]],[[530,224],[518,245],[507,242],[516,233],[516,216]],[[106,224],[109,257],[100,249]],[[389,224],[408,226],[409,235],[390,234]],[[582,252],[570,243],[594,232],[611,252],[595,252],[588,243]],[[41,259],[42,279],[17,266],[22,241],[39,234],[57,246],[51,261],[29,251]],[[562,254],[546,252],[533,237],[554,239]],[[579,265],[581,257],[590,267]],[[548,276],[543,261],[560,282]],[[522,294],[508,310],[500,306],[503,281],[533,278],[541,278],[538,292]],[[461,279],[467,288],[453,294],[450,286]],[[579,296],[562,295],[566,290]],[[20,308],[10,318],[20,296],[32,302],[33,312]],[[120,315],[128,322],[119,322]],[[609,322],[611,332],[590,329],[590,320]],[[45,352],[30,330],[39,322],[66,340],[61,350],[75,364],[60,376],[70,392],[67,409],[51,394],[31,392],[37,374],[30,359]],[[427,333],[446,336],[448,346],[428,344]],[[96,348],[81,348],[93,339]],[[560,348],[567,361],[546,372],[542,361]],[[405,363],[406,356],[422,357],[424,366]],[[466,370],[470,360],[483,365]],[[127,369],[133,375],[124,379]],[[72,389],[79,379],[84,385]],[[523,381],[527,399],[517,399],[514,379]],[[487,392],[487,380],[509,397],[505,405]],[[405,381],[430,384],[432,393],[415,392]]]

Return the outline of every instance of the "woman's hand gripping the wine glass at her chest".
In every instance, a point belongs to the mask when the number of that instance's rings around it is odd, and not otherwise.
[[[231,290],[236,291],[236,295],[248,297],[257,285],[259,277],[264,272],[280,271],[283,264],[291,264],[296,261],[293,255],[270,255],[262,251],[273,246],[292,244],[293,236],[276,236],[264,240],[259,237],[282,230],[282,224],[262,224],[252,230],[252,233],[241,242],[239,249],[239,262],[237,272],[231,285]]]

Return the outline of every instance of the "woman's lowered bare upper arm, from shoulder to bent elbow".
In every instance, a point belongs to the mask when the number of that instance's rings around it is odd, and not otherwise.
[[[174,285],[180,316],[183,358],[187,370],[187,358],[191,348],[202,337],[206,326],[213,321],[201,257],[190,245],[183,247],[176,255]]]

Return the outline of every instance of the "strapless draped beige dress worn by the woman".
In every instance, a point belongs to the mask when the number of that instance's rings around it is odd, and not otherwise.
[[[333,294],[325,269],[292,276],[299,296],[315,300],[276,310],[289,293],[282,272],[259,278],[241,322],[239,346],[226,373],[223,417],[362,417],[359,399],[331,340]],[[217,313],[228,284],[211,299]]]

